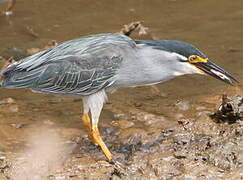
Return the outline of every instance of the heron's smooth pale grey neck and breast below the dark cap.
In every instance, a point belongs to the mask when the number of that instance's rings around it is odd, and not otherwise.
[[[180,64],[173,53],[144,47],[138,50],[136,58],[124,60],[118,72],[121,86],[156,84],[176,76],[194,73],[187,64]]]

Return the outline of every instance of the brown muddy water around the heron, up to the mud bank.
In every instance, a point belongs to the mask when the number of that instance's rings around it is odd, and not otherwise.
[[[1,2],[0,9],[3,10],[6,4]],[[242,9],[241,0],[18,0],[13,16],[0,16],[0,56],[24,56],[26,49],[43,47],[53,39],[62,42],[88,34],[117,32],[123,24],[143,20],[155,39],[192,43],[241,81]],[[179,77],[156,87],[160,92],[139,87],[118,90],[110,95],[110,103],[104,108],[100,126],[115,128],[121,133],[118,142],[122,143],[126,133],[143,134],[143,131],[171,129],[178,126],[177,119],[181,114],[195,118],[200,108],[213,111],[221,94],[242,93],[241,88],[198,75]],[[5,152],[22,149],[26,136],[31,136],[39,126],[54,126],[68,138],[85,135],[80,124],[79,99],[34,94],[28,90],[0,89],[0,100],[8,97],[13,98],[15,103],[0,105],[0,148]],[[178,100],[189,102],[185,105],[186,111],[176,106]],[[151,116],[155,115],[156,120],[153,121]],[[140,121],[132,121],[131,124],[132,119]],[[207,123],[212,122],[208,120]],[[148,128],[150,125],[152,130]],[[104,133],[110,135],[113,131],[104,130]],[[115,142],[116,139],[110,140],[110,144]],[[116,146],[119,147],[119,144]],[[119,152],[121,156],[125,151],[116,151],[116,155],[119,156]],[[86,161],[84,158],[79,163]]]

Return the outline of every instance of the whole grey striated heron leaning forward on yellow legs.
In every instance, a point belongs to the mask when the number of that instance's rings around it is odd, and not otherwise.
[[[112,154],[98,130],[106,92],[156,84],[194,73],[209,74],[231,85],[237,82],[188,43],[97,34],[64,42],[10,64],[1,71],[1,87],[81,96],[83,125],[90,140],[100,146],[111,161]]]

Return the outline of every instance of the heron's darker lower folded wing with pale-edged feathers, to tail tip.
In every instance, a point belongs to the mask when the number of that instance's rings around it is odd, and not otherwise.
[[[90,95],[114,82],[121,61],[121,57],[81,59],[69,55],[31,71],[12,72],[3,86],[63,95]]]

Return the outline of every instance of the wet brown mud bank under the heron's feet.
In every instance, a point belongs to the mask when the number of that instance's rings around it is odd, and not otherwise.
[[[1,114],[19,114],[18,103],[8,101]],[[53,102],[49,103],[53,106],[70,100]],[[80,102],[72,104],[79,106]],[[173,105],[177,109],[174,117],[135,106],[124,113],[112,103],[106,106],[105,112],[110,114],[106,118],[112,121],[101,123],[100,128],[120,165],[106,162],[85,131],[72,127],[73,123],[61,124],[60,119],[48,115],[37,122],[31,118],[5,122],[5,127],[1,126],[2,137],[6,137],[1,141],[1,171],[10,179],[241,179],[242,120],[215,122],[210,118],[212,108],[183,101],[179,104]],[[187,108],[181,109],[182,104]],[[79,119],[79,114],[67,114]],[[75,124],[80,126],[79,121]]]

